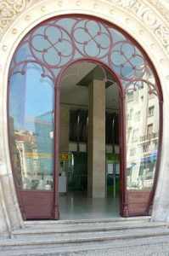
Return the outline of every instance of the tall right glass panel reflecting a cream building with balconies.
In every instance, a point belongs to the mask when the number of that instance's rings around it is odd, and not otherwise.
[[[158,97],[147,84],[127,91],[127,189],[151,190],[159,135]]]

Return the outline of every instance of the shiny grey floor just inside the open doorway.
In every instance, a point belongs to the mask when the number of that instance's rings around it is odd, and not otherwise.
[[[119,218],[119,196],[87,198],[82,192],[59,195],[60,219]]]

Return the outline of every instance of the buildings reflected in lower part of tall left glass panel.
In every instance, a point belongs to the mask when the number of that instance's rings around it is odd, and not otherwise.
[[[33,120],[35,131],[15,130],[10,118],[14,168],[20,189],[51,189],[53,183],[53,113]]]

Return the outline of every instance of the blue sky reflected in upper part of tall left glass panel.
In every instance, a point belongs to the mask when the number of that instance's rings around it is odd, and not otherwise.
[[[41,78],[35,65],[27,69],[24,76],[15,75],[10,85],[10,116],[14,118],[14,129],[34,131],[33,119],[53,111],[53,102],[53,84],[50,79]]]

